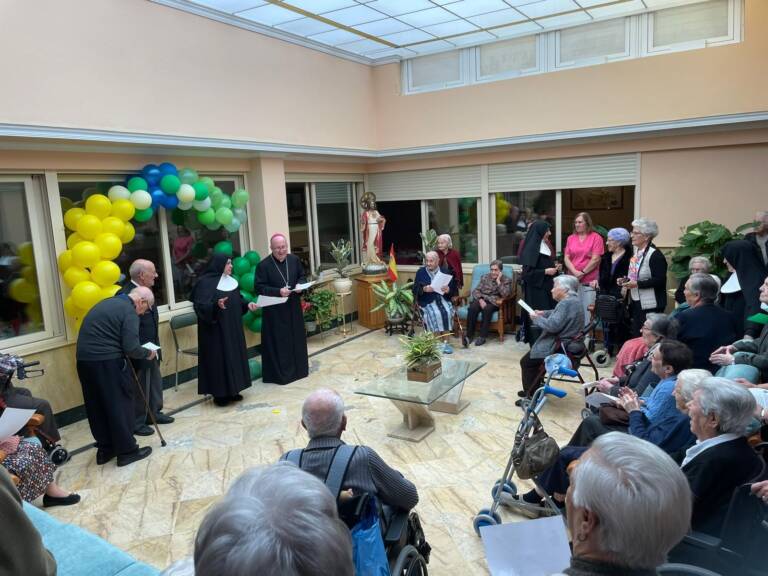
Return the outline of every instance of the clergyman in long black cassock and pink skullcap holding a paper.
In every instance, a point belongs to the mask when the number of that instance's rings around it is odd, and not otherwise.
[[[267,383],[290,384],[309,374],[301,294],[293,291],[297,284],[306,280],[301,261],[288,253],[284,236],[275,234],[269,247],[272,253],[256,267],[254,293],[287,296],[288,301],[262,309],[261,375]]]

